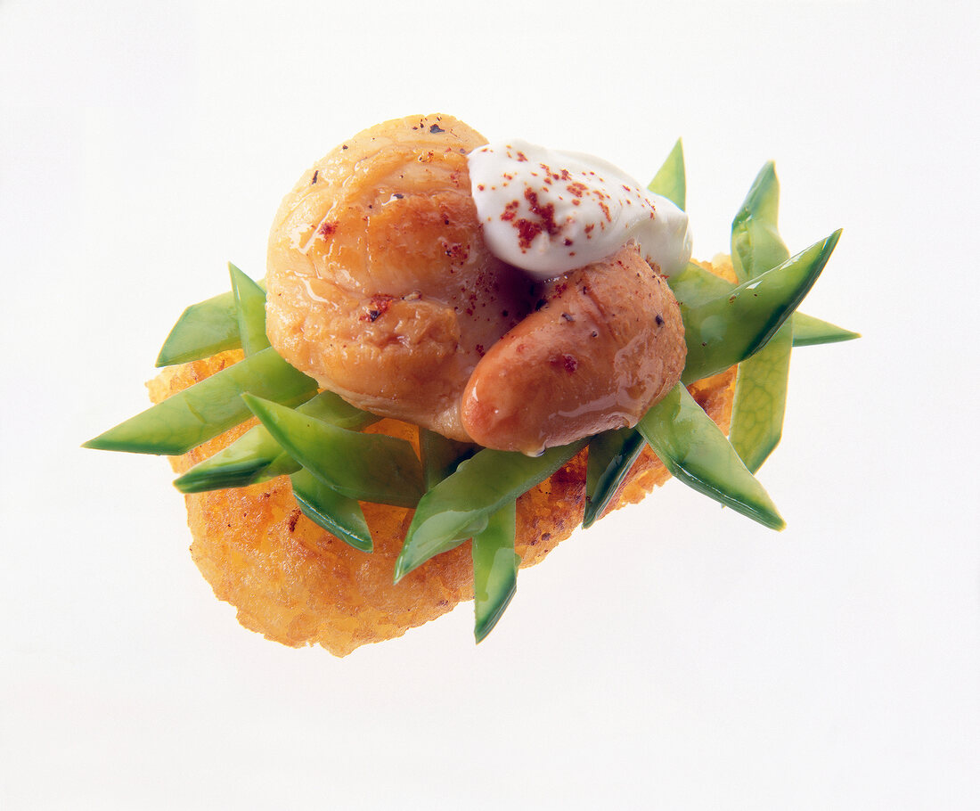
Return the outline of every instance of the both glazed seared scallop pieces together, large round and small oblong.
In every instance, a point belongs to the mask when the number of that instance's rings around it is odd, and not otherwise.
[[[272,345],[360,408],[485,447],[635,425],[680,379],[677,302],[635,245],[543,283],[495,257],[466,160],[483,143],[398,119],[301,177],[270,234]]]

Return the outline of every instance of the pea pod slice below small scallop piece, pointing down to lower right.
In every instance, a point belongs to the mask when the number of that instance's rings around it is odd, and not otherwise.
[[[678,481],[764,527],[782,530],[786,526],[731,443],[680,383],[647,412],[637,428]]]

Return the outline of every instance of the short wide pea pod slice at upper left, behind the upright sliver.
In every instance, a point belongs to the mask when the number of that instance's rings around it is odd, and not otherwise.
[[[265,287],[265,281],[256,282]],[[235,297],[228,291],[192,304],[173,325],[157,356],[157,366],[210,358],[241,346]]]

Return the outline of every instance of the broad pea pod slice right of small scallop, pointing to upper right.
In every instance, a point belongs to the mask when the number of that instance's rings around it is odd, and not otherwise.
[[[840,238],[834,231],[777,268],[726,295],[681,307],[687,363],[682,380],[722,372],[758,352],[800,305]]]

